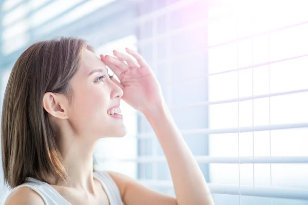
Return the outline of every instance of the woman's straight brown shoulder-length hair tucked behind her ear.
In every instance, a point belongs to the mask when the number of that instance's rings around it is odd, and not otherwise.
[[[4,179],[14,188],[26,177],[55,184],[67,172],[43,108],[46,92],[72,97],[69,81],[80,66],[85,40],[61,37],[37,42],[17,59],[6,87],[1,123]]]

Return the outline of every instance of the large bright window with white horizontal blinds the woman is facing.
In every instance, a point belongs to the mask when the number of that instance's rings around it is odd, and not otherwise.
[[[307,203],[305,6],[252,0],[140,4],[140,51],[216,204]],[[143,116],[138,137],[139,179],[174,194]]]

